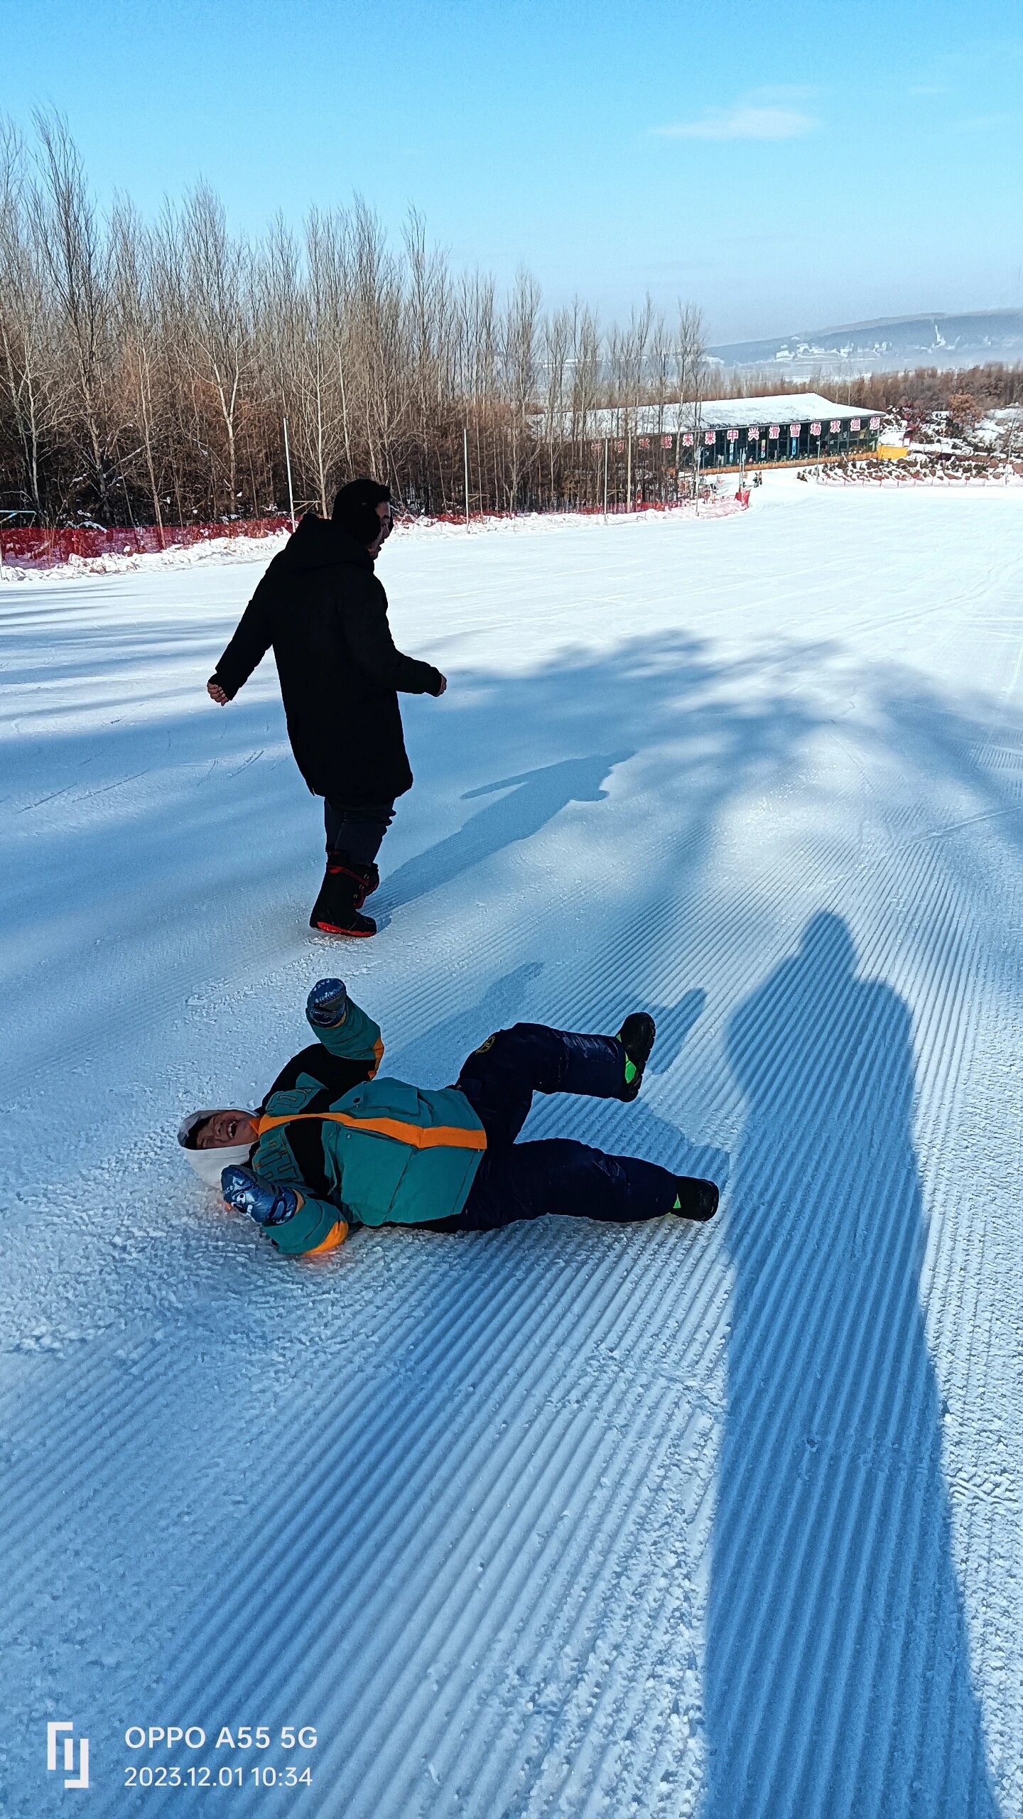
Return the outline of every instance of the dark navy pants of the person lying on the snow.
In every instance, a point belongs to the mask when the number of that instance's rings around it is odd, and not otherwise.
[[[542,1024],[499,1030],[470,1055],[457,1086],[486,1131],[486,1153],[470,1197],[431,1231],[495,1231],[519,1219],[661,1219],[675,1204],[675,1177],[632,1155],[604,1155],[552,1137],[515,1142],[533,1093],[621,1099],[626,1055],[613,1035],[570,1035]]]

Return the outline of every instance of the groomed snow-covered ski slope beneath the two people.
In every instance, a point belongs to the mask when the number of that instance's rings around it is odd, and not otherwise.
[[[2,598],[2,1810],[1018,1819],[1023,495],[395,538],[451,680],[340,951],[271,664],[204,695],[257,575]],[[424,1084],[650,1006],[530,1130],[721,1217],[277,1257],[175,1126],[335,971]]]

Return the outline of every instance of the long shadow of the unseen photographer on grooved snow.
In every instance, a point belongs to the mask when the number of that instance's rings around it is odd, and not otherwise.
[[[910,1013],[845,920],[735,1011],[748,1117],[703,1819],[996,1819],[917,1297]]]

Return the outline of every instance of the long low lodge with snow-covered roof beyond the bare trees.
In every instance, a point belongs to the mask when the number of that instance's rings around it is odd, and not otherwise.
[[[535,427],[542,435],[546,420],[537,418]],[[624,449],[626,438],[637,453],[672,451],[677,467],[759,467],[872,455],[881,418],[856,404],[832,404],[815,391],[799,391],[588,411],[584,427],[566,411],[561,429],[566,440],[608,438],[615,453]]]

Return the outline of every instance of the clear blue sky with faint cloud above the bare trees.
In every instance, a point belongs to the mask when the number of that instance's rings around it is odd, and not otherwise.
[[[714,340],[1023,302],[1023,13],[985,0],[0,0],[0,111],[100,198],[360,191],[459,266]]]

